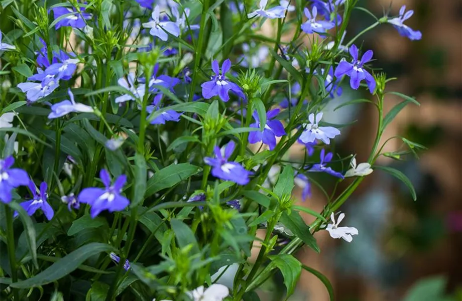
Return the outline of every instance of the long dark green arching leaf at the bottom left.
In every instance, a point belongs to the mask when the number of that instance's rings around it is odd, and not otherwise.
[[[99,242],[89,243],[59,259],[57,262],[34,277],[12,283],[10,286],[15,288],[30,288],[51,283],[70,274],[90,256],[110,251],[115,250],[108,244]]]

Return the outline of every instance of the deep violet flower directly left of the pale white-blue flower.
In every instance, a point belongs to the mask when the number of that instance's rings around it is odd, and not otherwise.
[[[281,121],[273,120],[279,114],[279,109],[270,110],[266,113],[266,124],[263,131],[251,131],[249,133],[249,142],[257,143],[263,140],[264,144],[267,144],[270,150],[276,147],[276,137],[281,137],[286,134],[284,125]],[[255,123],[252,123],[250,127],[260,128],[260,118],[258,117],[257,111],[252,114],[255,119]]]

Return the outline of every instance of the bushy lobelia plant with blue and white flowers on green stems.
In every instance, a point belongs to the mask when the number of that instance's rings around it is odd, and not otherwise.
[[[259,300],[255,290],[277,270],[287,298],[306,269],[333,299],[327,278],[292,254],[319,252],[318,231],[347,242],[367,231],[338,226],[348,224],[339,210],[373,170],[402,180],[415,199],[404,174],[375,162],[423,148],[394,137],[408,150],[382,153],[387,125],[418,102],[386,91],[392,79],[372,68],[359,40],[384,23],[421,39],[404,25],[412,11],[376,18],[349,39],[355,7],[3,1],[0,298]],[[365,97],[342,95],[349,87]],[[403,102],[385,113],[388,93]],[[340,106],[365,102],[379,113],[359,165],[333,143],[349,124],[322,119],[340,95]],[[305,152],[290,161],[295,144]],[[312,184],[326,191],[342,181],[322,212],[294,204],[295,184],[306,200]]]

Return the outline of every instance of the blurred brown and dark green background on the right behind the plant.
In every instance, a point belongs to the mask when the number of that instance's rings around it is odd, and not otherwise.
[[[402,5],[414,10],[406,24],[420,30],[422,40],[410,41],[392,26],[382,25],[357,44],[374,50],[375,67],[389,78],[398,77],[387,90],[414,96],[421,103],[401,111],[383,140],[402,135],[428,149],[419,153],[420,159],[381,157],[377,162],[406,174],[416,189],[417,201],[412,200],[405,185],[376,170],[341,208],[347,216],[343,226],[359,230],[353,242],[334,240],[320,231],[315,237],[321,254],[307,247],[298,252],[304,264],[331,280],[338,301],[462,300],[462,1],[359,2],[378,18],[389,10],[390,16],[396,16]],[[372,17],[356,11],[345,41],[372,23]],[[348,94],[353,93],[348,90],[344,89],[343,99],[338,101],[371,97],[368,93]],[[400,101],[388,95],[385,111]],[[342,155],[357,154],[358,163],[365,162],[375,137],[376,109],[348,106],[328,118],[331,121],[326,121],[333,123],[359,120],[342,130],[337,147]],[[394,139],[385,151],[401,146],[402,141]],[[300,197],[301,191],[296,193]],[[319,191],[300,202],[317,211],[325,203]],[[309,216],[306,220],[312,221]],[[276,275],[275,282],[284,287],[282,277]],[[261,299],[275,298],[273,293],[262,291]],[[327,301],[329,296],[318,278],[303,271],[297,293],[290,300]]]

